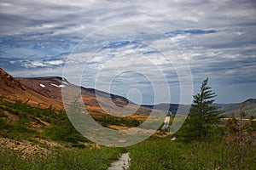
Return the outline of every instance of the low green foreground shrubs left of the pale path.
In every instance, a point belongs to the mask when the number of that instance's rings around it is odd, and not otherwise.
[[[107,169],[113,160],[117,160],[124,149],[65,149],[54,150],[49,156],[27,156],[22,158],[19,152],[0,151],[0,169]]]

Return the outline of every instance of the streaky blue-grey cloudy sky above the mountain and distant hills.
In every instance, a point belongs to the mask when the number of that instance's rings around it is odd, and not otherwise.
[[[209,77],[217,103],[256,98],[253,1],[1,0],[0,67],[138,104],[189,103]]]

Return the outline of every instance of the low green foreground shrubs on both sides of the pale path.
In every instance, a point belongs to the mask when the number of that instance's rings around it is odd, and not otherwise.
[[[21,158],[10,150],[0,152],[0,169],[108,169],[113,160],[129,152],[130,170],[166,169],[255,169],[256,151],[252,145],[238,146],[218,139],[183,143],[150,138],[127,148],[56,149],[49,156]],[[239,156],[242,153],[242,160]]]

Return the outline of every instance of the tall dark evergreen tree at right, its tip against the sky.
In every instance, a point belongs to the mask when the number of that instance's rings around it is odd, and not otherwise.
[[[212,105],[216,95],[207,83],[208,78],[201,83],[200,93],[193,96],[194,103],[182,130],[185,140],[205,139],[212,133],[213,127],[216,127],[220,120],[220,114],[223,113],[218,111],[218,106]]]

